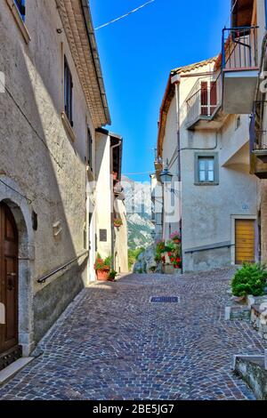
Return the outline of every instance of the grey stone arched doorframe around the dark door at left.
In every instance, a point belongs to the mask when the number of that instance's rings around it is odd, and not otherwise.
[[[1,176],[1,180],[7,186],[0,182],[0,202],[10,208],[19,235],[19,345],[22,347],[22,356],[28,357],[35,347],[33,309],[35,240],[31,220],[32,208],[15,181],[6,176]]]

